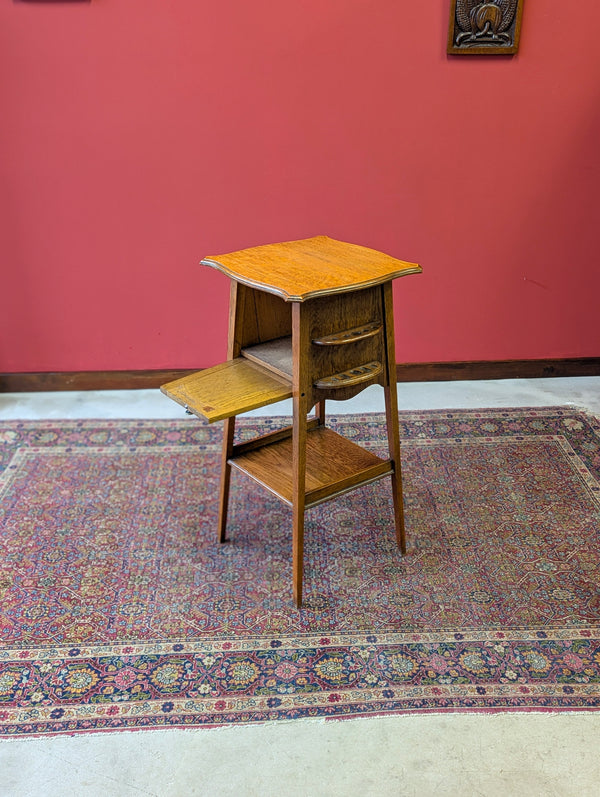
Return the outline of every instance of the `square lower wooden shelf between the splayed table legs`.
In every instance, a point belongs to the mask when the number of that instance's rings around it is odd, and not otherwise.
[[[240,454],[230,464],[292,505],[292,439]],[[307,433],[305,506],[341,495],[393,472],[389,459],[365,451],[345,437],[318,426]]]

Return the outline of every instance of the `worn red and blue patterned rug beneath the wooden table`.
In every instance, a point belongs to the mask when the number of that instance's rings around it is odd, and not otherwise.
[[[407,555],[388,479],[311,509],[301,610],[290,511],[241,474],[216,541],[220,424],[0,423],[2,734],[597,708],[598,421],[400,422]],[[382,416],[335,426],[385,451]]]

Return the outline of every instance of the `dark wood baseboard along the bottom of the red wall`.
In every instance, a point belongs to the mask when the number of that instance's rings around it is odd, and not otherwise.
[[[195,370],[198,369],[0,374],[0,393],[158,388],[166,382],[194,373]],[[397,366],[399,382],[538,379],[554,376],[600,376],[600,357],[571,357],[560,360],[403,363]]]

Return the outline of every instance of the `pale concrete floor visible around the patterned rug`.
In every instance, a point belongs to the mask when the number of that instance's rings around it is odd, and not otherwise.
[[[403,409],[575,405],[600,378],[402,384]],[[372,388],[330,413],[381,411]],[[289,406],[266,408],[288,414]],[[265,414],[266,414],[265,412]],[[169,418],[158,391],[0,394],[0,419]],[[0,743],[0,797],[597,795],[600,712],[421,714]]]

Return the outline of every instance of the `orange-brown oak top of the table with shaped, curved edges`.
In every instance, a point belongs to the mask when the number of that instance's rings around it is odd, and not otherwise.
[[[422,271],[416,263],[325,235],[209,255],[201,262],[286,302],[356,291]]]

